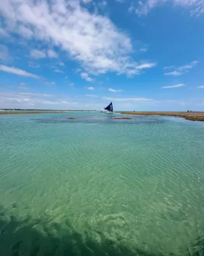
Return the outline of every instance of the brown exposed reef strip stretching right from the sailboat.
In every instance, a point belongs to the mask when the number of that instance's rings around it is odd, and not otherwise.
[[[160,116],[175,116],[176,118],[184,118],[191,121],[204,122],[204,112],[121,112],[125,115],[160,115]]]

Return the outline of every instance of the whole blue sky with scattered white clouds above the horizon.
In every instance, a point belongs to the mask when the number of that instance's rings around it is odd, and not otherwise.
[[[0,108],[204,111],[204,0],[1,0]]]

